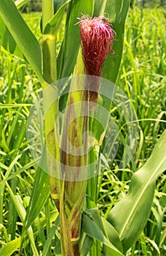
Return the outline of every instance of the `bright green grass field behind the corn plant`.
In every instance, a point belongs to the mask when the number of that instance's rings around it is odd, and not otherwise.
[[[25,15],[36,37],[40,37],[40,14]],[[63,27],[60,31],[63,33]],[[125,170],[117,171],[124,146],[119,146],[114,162],[101,174],[98,184],[98,208],[103,216],[117,200],[126,195],[132,173],[149,158],[166,120],[165,12],[162,9],[130,10],[125,29],[124,53],[116,85],[132,102],[138,118],[138,145]],[[60,41],[61,35],[58,35]],[[57,45],[60,48],[60,42]],[[26,121],[33,100],[41,90],[31,67],[0,48],[0,248],[20,239],[23,219],[36,178],[36,162],[26,138]],[[117,124],[118,110],[112,110]],[[124,121],[123,121],[124,124]],[[125,137],[125,126],[122,133]],[[108,127],[109,130],[109,127]],[[166,226],[165,173],[157,180],[157,189],[146,227],[129,255],[165,255]],[[25,239],[22,255],[57,255],[59,230],[52,234],[58,211],[51,197],[33,222]],[[52,228],[53,227],[53,228]],[[50,238],[47,239],[47,238]],[[55,249],[56,247],[56,249]],[[18,255],[19,249],[13,253]],[[2,255],[1,255],[2,256]]]

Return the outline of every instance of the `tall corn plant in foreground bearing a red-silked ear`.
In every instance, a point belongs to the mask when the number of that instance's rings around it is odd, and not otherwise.
[[[18,10],[26,2],[0,0],[1,44],[28,61],[41,83],[44,138],[41,136],[42,157],[26,214],[20,199],[7,184],[7,177],[2,176],[15,206],[20,206],[17,212],[24,226],[21,239],[12,240],[0,253],[11,255],[20,247],[21,254],[28,233],[33,255],[39,255],[32,225],[51,194],[59,214],[50,229],[43,255],[47,255],[58,225],[57,255],[124,255],[146,225],[155,181],[166,167],[164,132],[146,164],[133,175],[127,196],[109,209],[106,218],[100,217],[96,191],[108,114],[116,95],[121,94],[116,105],[125,98],[114,83],[122,59],[130,1],[43,0],[42,42],[36,39]],[[57,35],[64,15],[65,33],[57,53]],[[105,85],[102,91],[104,84],[110,87]],[[105,116],[102,108],[106,109]],[[129,114],[133,118],[127,121],[137,124],[134,112],[131,110]],[[138,134],[135,129],[134,132],[132,139],[136,140]],[[126,143],[127,151],[130,148]],[[127,153],[122,159],[126,156]],[[124,165],[125,161],[121,167]]]

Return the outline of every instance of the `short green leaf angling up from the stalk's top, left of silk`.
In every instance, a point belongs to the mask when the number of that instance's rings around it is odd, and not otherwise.
[[[69,1],[71,0],[66,1],[66,3],[60,7],[58,12],[56,12],[52,19],[47,23],[47,26],[44,29],[44,34],[54,34],[56,37],[58,29],[60,27],[60,22],[66,10],[66,5],[69,3]]]

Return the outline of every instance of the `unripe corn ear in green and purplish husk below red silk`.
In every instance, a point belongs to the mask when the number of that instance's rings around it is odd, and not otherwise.
[[[82,53],[76,61],[74,75],[84,72]],[[79,76],[71,78],[68,102],[63,117],[63,132],[61,139],[60,162],[63,165],[64,180],[60,191],[60,230],[63,233],[62,254],[79,255],[79,236],[81,230],[82,206],[87,189],[87,136],[84,138],[82,148],[82,135],[88,127],[87,91],[84,90],[86,80]],[[82,116],[84,113],[84,116]],[[76,116],[79,116],[76,118]],[[68,143],[71,141],[72,146]],[[68,153],[72,148],[73,154]],[[74,149],[75,148],[75,149]],[[79,155],[76,155],[79,151]],[[85,169],[82,173],[82,167]],[[79,180],[78,180],[79,177]],[[66,233],[63,231],[66,227]],[[69,238],[69,241],[68,241]]]

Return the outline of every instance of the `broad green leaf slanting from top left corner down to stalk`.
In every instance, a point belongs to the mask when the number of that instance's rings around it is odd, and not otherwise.
[[[44,82],[44,78],[42,77],[41,47],[31,29],[29,29],[28,25],[25,23],[22,15],[20,15],[20,12],[17,10],[14,1],[0,0],[0,15],[6,24],[7,29],[9,29],[9,32],[12,34],[12,37],[15,39],[18,48],[20,48],[21,52],[25,56],[25,59],[27,59],[29,64],[31,64],[36,75],[38,75],[39,80]],[[3,31],[5,33],[4,29]],[[2,38],[4,38],[3,35]],[[11,48],[13,51],[15,47],[16,45],[13,40],[12,48],[9,46],[8,42],[9,49]]]

